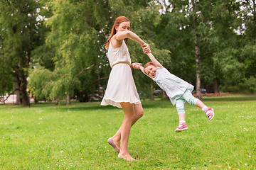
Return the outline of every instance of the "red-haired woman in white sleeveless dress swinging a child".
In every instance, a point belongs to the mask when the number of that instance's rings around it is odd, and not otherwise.
[[[127,48],[128,38],[139,42],[144,53],[150,52],[149,45],[130,31],[129,19],[119,16],[114,22],[110,38],[105,44],[112,70],[101,105],[112,105],[123,109],[124,120],[122,125],[107,142],[119,153],[119,158],[132,161],[135,159],[128,153],[129,133],[132,125],[142,117],[144,111],[132,77],[131,58]],[[121,147],[119,146],[120,140]]]

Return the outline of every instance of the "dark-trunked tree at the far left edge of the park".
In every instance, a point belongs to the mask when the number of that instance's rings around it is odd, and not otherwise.
[[[27,77],[31,51],[38,40],[36,1],[0,1],[1,57],[16,83],[16,104],[28,106]],[[6,69],[5,69],[6,70]],[[10,74],[10,72],[9,72]],[[19,99],[22,100],[19,100]]]

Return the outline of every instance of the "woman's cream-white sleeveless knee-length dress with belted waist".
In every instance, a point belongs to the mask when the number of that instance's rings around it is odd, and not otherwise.
[[[112,105],[122,108],[120,105],[121,102],[141,103],[132,77],[132,69],[130,67],[131,57],[124,40],[122,45],[117,48],[112,47],[110,41],[107,57],[112,70],[101,105]]]

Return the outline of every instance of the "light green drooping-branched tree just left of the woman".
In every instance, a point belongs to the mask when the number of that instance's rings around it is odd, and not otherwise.
[[[46,21],[50,33],[46,44],[35,51],[35,64],[43,67],[36,67],[39,70],[33,70],[31,75],[36,72],[43,74],[50,69],[55,78],[45,80],[48,81],[46,86],[41,86],[43,91],[47,91],[45,97],[66,96],[69,104],[75,93],[92,94],[98,81],[105,79],[101,69],[104,65],[99,59],[105,51],[102,49],[105,41],[102,28],[108,7],[106,1],[48,1],[47,5],[52,12]],[[52,52],[48,57],[48,61],[53,61],[50,65],[43,62],[46,60],[45,52]]]

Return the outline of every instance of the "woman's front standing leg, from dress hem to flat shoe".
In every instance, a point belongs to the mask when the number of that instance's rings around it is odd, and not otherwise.
[[[129,134],[132,127],[132,120],[134,119],[134,104],[131,103],[121,103],[122,109],[124,111],[124,120],[121,125],[121,147],[118,157],[127,159],[128,161],[134,160],[128,153],[128,140]]]

